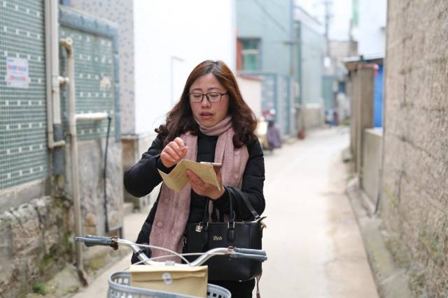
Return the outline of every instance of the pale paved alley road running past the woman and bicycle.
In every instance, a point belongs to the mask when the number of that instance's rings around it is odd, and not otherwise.
[[[348,144],[346,130],[318,130],[266,156],[262,297],[378,297],[344,194]],[[128,216],[125,236],[134,239],[144,218]],[[125,258],[74,297],[104,297],[107,276],[128,264]]]

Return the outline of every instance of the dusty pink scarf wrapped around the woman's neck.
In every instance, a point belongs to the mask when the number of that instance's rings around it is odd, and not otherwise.
[[[215,163],[222,163],[221,173],[224,186],[241,188],[243,173],[248,161],[246,145],[237,149],[233,147],[232,118],[226,117],[213,127],[200,125],[200,131],[205,135],[219,135],[215,149]],[[188,147],[188,152],[183,159],[196,161],[197,158],[197,135],[185,133],[181,139]],[[186,229],[188,216],[190,214],[191,186],[187,184],[181,193],[176,193],[162,184],[160,198],[153,228],[149,237],[149,243],[154,246],[162,246],[181,253],[183,248],[183,232]],[[153,249],[152,257],[167,255],[165,251]],[[179,258],[164,258],[163,260],[175,260]]]

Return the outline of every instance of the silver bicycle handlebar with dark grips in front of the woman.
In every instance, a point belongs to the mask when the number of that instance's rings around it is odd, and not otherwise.
[[[166,265],[166,262],[157,262],[149,259],[143,252],[143,250],[140,248],[140,246],[147,246],[151,248],[158,248],[157,246],[148,246],[145,244],[135,244],[132,241],[128,241],[125,239],[119,239],[118,237],[104,237],[104,236],[96,236],[96,235],[87,235],[85,237],[75,237],[75,241],[84,242],[85,246],[111,246],[114,250],[118,249],[118,244],[125,244],[127,246],[130,246],[132,248],[132,251],[137,255],[137,257],[148,265]],[[158,249],[164,249],[164,248],[158,248]],[[164,249],[165,250],[165,249]],[[252,260],[258,260],[260,262],[264,262],[267,260],[267,255],[265,251],[258,250],[258,249],[249,249],[249,248],[237,248],[230,246],[228,248],[214,248],[209,251],[206,251],[204,253],[200,253],[200,257],[197,258],[193,262],[188,262],[183,256],[180,254],[179,257],[183,258],[183,260],[186,260],[188,264],[177,264],[176,266],[200,266],[204,264],[209,258],[211,258],[214,255],[228,255],[229,258],[246,258],[246,259],[252,259]]]

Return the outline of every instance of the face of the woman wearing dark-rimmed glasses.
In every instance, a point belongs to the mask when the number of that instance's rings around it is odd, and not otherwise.
[[[218,102],[211,102],[207,96],[201,94],[209,94],[209,98],[214,101],[221,96]],[[198,101],[202,98],[200,102]],[[198,77],[190,87],[190,106],[195,119],[205,127],[215,126],[223,120],[229,109],[229,95],[223,85],[216,79],[212,73]]]

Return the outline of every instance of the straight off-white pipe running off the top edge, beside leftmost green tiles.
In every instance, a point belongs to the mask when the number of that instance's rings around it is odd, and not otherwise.
[[[59,48],[57,44],[57,0],[45,0],[45,69],[47,82],[47,138],[48,148],[65,145],[64,140],[55,142],[53,126],[60,126]],[[61,80],[62,79],[62,80]]]

